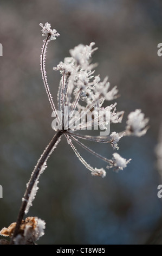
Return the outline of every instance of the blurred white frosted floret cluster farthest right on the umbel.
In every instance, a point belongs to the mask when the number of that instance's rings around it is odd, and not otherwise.
[[[148,118],[144,118],[144,113],[141,113],[141,109],[136,109],[128,115],[127,120],[127,133],[129,135],[142,136],[147,132]]]

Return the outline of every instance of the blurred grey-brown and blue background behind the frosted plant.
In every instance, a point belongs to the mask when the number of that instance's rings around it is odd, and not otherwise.
[[[94,41],[99,50],[95,74],[109,76],[121,97],[125,129],[129,112],[142,109],[150,129],[141,138],[122,138],[119,154],[131,158],[119,173],[108,170],[105,179],[92,176],[77,160],[63,137],[48,160],[29,216],[46,221],[38,244],[142,244],[159,227],[162,216],[157,186],[155,147],[159,140],[162,107],[162,3],[160,0],[35,0],[0,3],[1,69],[0,229],[17,219],[21,199],[34,166],[54,136],[51,108],[40,72],[42,47],[39,23],[49,22],[60,33],[47,52],[48,82],[56,102],[60,74],[53,71],[69,49]],[[106,144],[87,144],[112,157]],[[104,162],[78,148],[88,163]]]

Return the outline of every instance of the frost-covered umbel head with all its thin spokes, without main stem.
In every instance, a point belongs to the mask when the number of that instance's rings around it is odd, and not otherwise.
[[[109,102],[118,97],[118,89],[116,87],[110,89],[108,77],[101,81],[99,75],[94,75],[95,71],[93,69],[96,64],[91,64],[90,58],[94,51],[97,50],[97,48],[93,48],[95,43],[92,42],[90,45],[80,44],[69,51],[70,57],[64,58],[64,61],[60,62],[54,68],[54,70],[59,70],[61,74],[60,86],[57,93],[58,112],[49,92],[45,70],[45,57],[48,41],[55,39],[55,36],[59,34],[55,29],[51,30],[49,23],[46,23],[44,26],[41,23],[40,26],[42,27],[43,35],[47,36],[42,48],[41,71],[44,86],[46,87],[49,101],[53,109],[53,116],[56,117],[54,129],[56,131],[62,130],[62,133],[64,133],[67,138],[68,144],[70,144],[77,157],[79,157],[79,160],[92,172],[92,175],[104,177],[106,171],[103,168],[98,169],[90,166],[76,150],[73,142],[105,161],[108,164],[108,169],[112,167],[114,170],[124,169],[130,159],[126,160],[117,153],[113,154],[112,159],[107,159],[88,148],[80,140],[86,139],[99,143],[109,143],[112,145],[113,149],[119,149],[118,142],[121,137],[132,134],[135,136],[144,135],[148,119],[144,119],[144,114],[142,114],[140,110],[136,110],[128,115],[127,127],[124,132],[117,133],[114,131],[110,136],[88,136],[76,133],[76,131],[92,127],[92,124],[94,126],[101,125],[102,129],[106,129],[107,119],[105,113],[107,111],[109,111],[110,123],[121,123],[124,111],[117,112],[116,102]],[[109,102],[107,107],[103,107],[103,102],[105,101]],[[74,117],[76,111],[77,118]],[[93,117],[91,115],[92,111]],[[99,112],[103,113],[102,120]],[[85,116],[88,117],[89,115],[90,120],[88,120],[88,118],[85,119]],[[76,121],[76,123],[73,126],[74,121]],[[69,126],[67,126],[67,122]]]

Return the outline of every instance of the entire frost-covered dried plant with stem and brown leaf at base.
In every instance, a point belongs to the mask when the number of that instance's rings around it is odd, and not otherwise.
[[[17,222],[12,223],[9,228],[1,230],[1,235],[10,236],[10,243],[16,244],[35,243],[44,234],[43,229],[45,224],[43,221],[36,217],[28,217],[25,221],[22,219],[24,213],[27,214],[32,205],[38,190],[37,184],[40,175],[46,169],[47,160],[60,142],[62,135],[66,136],[68,144],[72,147],[83,165],[90,170],[92,175],[105,177],[106,170],[90,166],[77,151],[73,143],[76,143],[95,157],[99,157],[99,159],[105,161],[107,169],[113,168],[114,171],[118,172],[124,169],[131,159],[126,160],[118,153],[114,153],[112,158],[108,159],[88,148],[81,141],[88,140],[105,143],[111,145],[114,150],[118,150],[118,142],[122,137],[130,135],[140,137],[148,129],[148,119],[144,118],[144,114],[141,113],[140,109],[136,109],[128,115],[125,131],[120,133],[113,131],[111,135],[106,134],[105,136],[101,136],[101,133],[100,136],[81,135],[77,133],[76,131],[80,130],[91,130],[92,125],[93,127],[100,127],[101,130],[106,130],[108,125],[112,123],[121,123],[124,111],[116,111],[116,102],[110,102],[119,96],[118,89],[116,86],[112,89],[110,88],[108,77],[101,81],[99,75],[94,75],[95,71],[93,69],[96,64],[91,64],[90,58],[97,50],[97,48],[93,48],[95,43],[92,42],[90,45],[80,44],[69,51],[70,57],[64,58],[64,61],[60,62],[54,68],[56,71],[59,70],[61,74],[56,109],[47,82],[46,51],[48,43],[51,40],[55,40],[56,36],[59,36],[59,33],[57,33],[56,29],[51,29],[48,22],[44,26],[40,23],[40,26],[42,28],[42,35],[46,36],[46,39],[43,40],[44,44],[41,54],[41,72],[48,99],[53,110],[53,117],[55,117],[53,128],[56,134],[44,150],[31,174],[31,178],[27,184],[27,190],[22,199]],[[110,103],[106,107],[103,107],[103,102],[105,101]],[[5,243],[5,241],[3,242]]]

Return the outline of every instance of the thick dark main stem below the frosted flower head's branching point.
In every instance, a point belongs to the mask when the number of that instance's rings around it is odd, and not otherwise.
[[[21,223],[23,220],[25,209],[28,204],[30,193],[31,193],[32,188],[34,187],[34,184],[35,184],[35,181],[37,180],[38,175],[41,172],[41,168],[42,168],[43,164],[46,163],[49,155],[51,154],[51,152],[54,149],[54,145],[58,142],[59,138],[62,136],[63,133],[64,133],[64,131],[60,130],[55,134],[55,136],[51,139],[50,143],[48,144],[47,148],[44,150],[42,156],[40,157],[40,159],[38,160],[38,162],[36,164],[33,174],[31,175],[31,178],[28,182],[27,190],[25,191],[25,194],[23,197],[21,208],[20,208],[20,211],[19,211],[18,217],[17,217],[14,234],[12,235],[12,238],[10,241],[11,244],[14,244],[14,238],[19,234],[20,226],[21,226]]]

